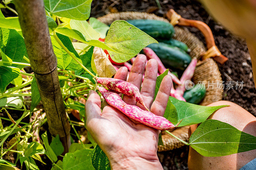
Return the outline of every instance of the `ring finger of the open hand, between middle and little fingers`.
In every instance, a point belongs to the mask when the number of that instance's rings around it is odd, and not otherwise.
[[[145,77],[140,91],[142,99],[148,108],[151,107],[155,96],[157,68],[157,61],[150,59],[146,66]],[[143,108],[140,103],[137,103],[137,106]]]

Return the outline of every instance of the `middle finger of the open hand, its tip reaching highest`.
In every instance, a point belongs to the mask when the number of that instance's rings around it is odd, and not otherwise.
[[[145,55],[138,55],[132,65],[132,70],[128,78],[128,82],[136,85],[139,89],[141,87],[142,76],[145,70],[146,61],[147,58]],[[134,100],[133,96],[124,95],[123,100],[127,104],[136,105],[136,101]]]

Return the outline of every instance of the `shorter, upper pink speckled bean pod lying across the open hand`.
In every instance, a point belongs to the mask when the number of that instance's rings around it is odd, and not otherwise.
[[[133,96],[134,99],[138,103],[143,105],[148,110],[148,108],[146,107],[146,105],[145,105],[145,103],[142,99],[142,96],[140,94],[140,90],[138,89],[138,87],[136,87],[132,83],[128,83],[124,80],[119,80],[119,79],[116,79],[116,78],[96,77],[95,79],[98,83],[104,85],[108,89],[114,90],[116,92],[121,92],[121,93],[129,95],[129,96]]]

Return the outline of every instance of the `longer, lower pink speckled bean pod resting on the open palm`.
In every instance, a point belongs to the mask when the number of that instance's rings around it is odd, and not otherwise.
[[[120,110],[124,115],[152,128],[158,130],[169,130],[175,126],[163,116],[157,116],[152,112],[142,110],[138,106],[125,103],[122,98],[114,93],[106,90],[104,87],[99,87],[99,91],[107,103]]]

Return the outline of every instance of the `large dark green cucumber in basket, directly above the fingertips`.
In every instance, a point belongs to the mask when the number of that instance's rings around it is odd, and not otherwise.
[[[185,51],[164,42],[149,44],[147,47],[151,48],[166,66],[185,70],[191,62],[191,57]]]

